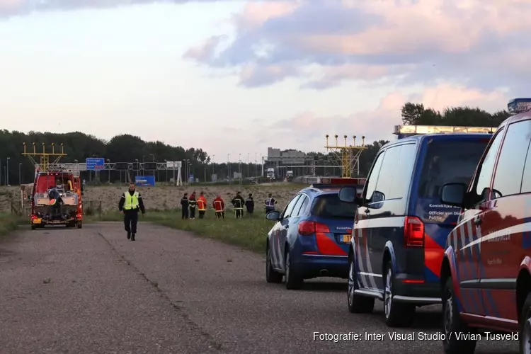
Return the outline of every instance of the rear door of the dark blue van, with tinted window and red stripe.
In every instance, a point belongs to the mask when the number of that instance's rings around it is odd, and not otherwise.
[[[416,198],[411,201],[416,216],[424,222],[426,282],[439,280],[446,239],[460,212],[459,207],[441,204],[442,185],[468,185],[489,140],[489,135],[441,135],[430,137],[423,144],[421,176],[416,183]]]

